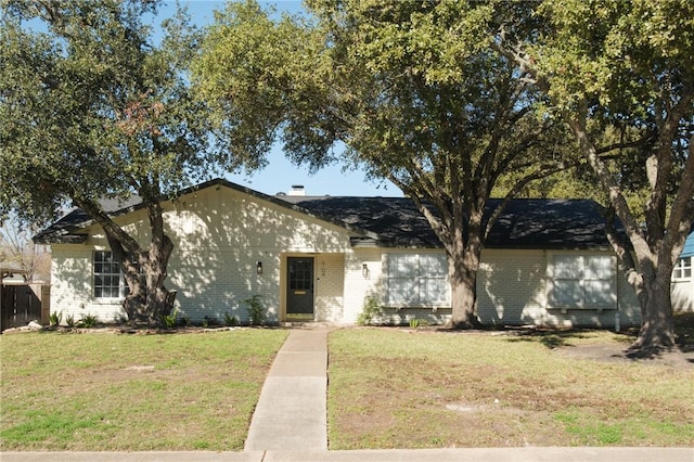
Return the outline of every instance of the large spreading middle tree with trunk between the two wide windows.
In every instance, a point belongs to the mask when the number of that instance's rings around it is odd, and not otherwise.
[[[258,156],[281,138],[319,168],[346,146],[411,197],[449,261],[454,328],[478,325],[476,278],[496,182],[506,200],[569,164],[541,156],[563,133],[535,117],[539,95],[491,52],[487,25],[503,9],[476,2],[308,2],[310,20],[273,22],[255,2],[231,4],[208,30],[195,80],[226,136]]]

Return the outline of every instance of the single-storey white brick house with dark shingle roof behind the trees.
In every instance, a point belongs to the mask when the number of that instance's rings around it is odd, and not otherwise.
[[[110,207],[146,245],[137,198]],[[192,320],[246,320],[253,295],[274,322],[354,323],[368,296],[388,322],[450,316],[446,254],[408,198],[269,196],[214,180],[164,209],[176,246],[166,285]],[[74,210],[35,240],[52,246],[54,311],[124,317],[124,279],[89,217]],[[617,312],[622,326],[641,321],[592,201],[512,201],[487,240],[477,287],[486,324],[613,326]]]

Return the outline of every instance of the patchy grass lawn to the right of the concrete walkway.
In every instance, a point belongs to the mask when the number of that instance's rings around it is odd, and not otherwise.
[[[629,342],[609,332],[334,332],[331,449],[691,446],[693,368],[563,352]]]

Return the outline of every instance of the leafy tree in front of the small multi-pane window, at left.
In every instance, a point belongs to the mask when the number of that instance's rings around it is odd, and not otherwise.
[[[3,8],[0,213],[37,219],[65,202],[87,211],[120,261],[129,320],[159,323],[170,309],[164,281],[174,251],[160,202],[221,158],[189,91],[197,33],[179,11],[157,43],[145,24],[154,1],[5,0]],[[100,203],[132,194],[146,209],[149,245]]]

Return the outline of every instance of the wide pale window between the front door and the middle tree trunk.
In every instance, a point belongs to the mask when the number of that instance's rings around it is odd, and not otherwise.
[[[450,305],[445,254],[388,254],[386,275],[388,306]]]

